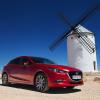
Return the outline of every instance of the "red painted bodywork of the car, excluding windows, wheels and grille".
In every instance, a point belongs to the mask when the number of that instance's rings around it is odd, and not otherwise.
[[[62,66],[62,65],[54,65],[54,64],[41,64],[35,63],[31,57],[22,56],[18,58],[28,59],[29,65],[20,65],[20,64],[7,64],[3,73],[6,72],[9,76],[9,82],[11,83],[21,83],[21,84],[30,84],[34,85],[34,78],[38,72],[43,72],[48,79],[49,87],[67,87],[67,86],[79,86],[83,84],[83,80],[80,79],[78,81],[71,79],[69,73],[82,73],[79,69]],[[50,68],[56,68],[64,73],[53,72],[49,70]],[[62,82],[56,82],[57,80],[62,79]]]

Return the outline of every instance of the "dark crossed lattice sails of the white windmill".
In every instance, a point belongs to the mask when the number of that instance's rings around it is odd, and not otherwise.
[[[95,45],[94,43],[89,39],[86,38],[86,35],[84,34],[84,37],[82,36],[83,33],[79,32],[79,30],[76,30],[76,28],[79,26],[79,24],[83,23],[84,21],[86,21],[98,8],[100,8],[100,3],[96,3],[94,5],[92,5],[91,8],[89,8],[85,14],[83,16],[81,16],[79,18],[79,20],[75,23],[75,24],[70,24],[68,20],[66,20],[65,16],[63,16],[61,14],[61,19],[63,19],[63,21],[65,21],[69,26],[70,26],[70,30],[65,32],[61,37],[59,37],[58,39],[56,39],[49,47],[50,50],[54,50],[64,39],[66,39],[68,36],[71,35],[72,31],[77,31],[78,35],[80,36],[80,39],[78,39],[80,41],[80,43],[82,45],[84,45],[84,47],[86,49],[88,49],[88,51],[90,53],[93,53],[95,51]]]

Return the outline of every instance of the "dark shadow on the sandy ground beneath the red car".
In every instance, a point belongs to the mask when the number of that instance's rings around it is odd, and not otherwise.
[[[2,84],[0,84],[0,85],[2,86]],[[11,84],[6,87],[24,89],[24,90],[29,90],[29,91],[36,91],[36,89],[31,85]],[[45,92],[45,94],[69,94],[69,93],[75,93],[75,92],[80,92],[80,91],[81,91],[81,89],[76,89],[76,88],[74,88],[74,89],[53,88],[53,89],[49,89],[49,91]]]

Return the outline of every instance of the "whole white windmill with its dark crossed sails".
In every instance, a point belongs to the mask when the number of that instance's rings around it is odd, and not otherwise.
[[[79,20],[71,24],[66,17],[60,13],[60,18],[70,26],[70,30],[65,31],[49,47],[54,50],[61,42],[67,39],[68,62],[70,66],[82,71],[97,71],[96,47],[94,34],[81,26],[98,8],[100,3],[96,3],[89,8]]]

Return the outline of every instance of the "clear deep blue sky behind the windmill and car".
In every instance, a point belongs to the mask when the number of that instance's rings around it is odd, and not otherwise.
[[[48,49],[53,40],[69,29],[57,14],[63,12],[74,23],[92,3],[92,0],[0,0],[1,69],[10,59],[22,55],[46,57],[67,65],[66,40],[54,52]],[[100,10],[83,26],[95,33],[100,66]]]

